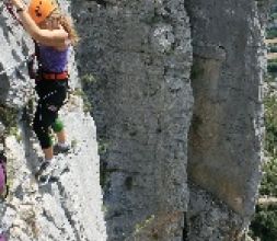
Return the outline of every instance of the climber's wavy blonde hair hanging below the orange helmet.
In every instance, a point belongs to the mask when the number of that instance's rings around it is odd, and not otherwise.
[[[73,25],[72,18],[69,15],[62,14],[59,10],[54,10],[51,14],[47,18],[48,21],[58,21],[58,23],[65,28],[69,35],[69,39],[73,46],[79,42],[79,36]]]

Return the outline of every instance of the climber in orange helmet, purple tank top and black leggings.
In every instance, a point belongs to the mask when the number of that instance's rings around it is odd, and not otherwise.
[[[68,89],[67,62],[71,45],[78,36],[72,21],[62,14],[54,0],[31,0],[28,8],[22,0],[10,0],[15,7],[24,30],[36,43],[36,92],[38,103],[33,120],[33,129],[39,140],[45,159],[39,168],[39,175],[50,175],[56,167],[55,152],[67,152],[66,131],[58,118],[58,111],[64,105]],[[53,145],[50,127],[56,133],[58,142]]]

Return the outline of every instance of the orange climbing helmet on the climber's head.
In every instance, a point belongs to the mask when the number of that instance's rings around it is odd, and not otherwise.
[[[35,23],[41,23],[50,15],[55,9],[57,9],[55,0],[31,0],[28,14]]]

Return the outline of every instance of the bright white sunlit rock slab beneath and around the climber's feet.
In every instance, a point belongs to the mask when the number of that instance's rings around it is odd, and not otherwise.
[[[93,119],[72,103],[62,116],[74,147],[56,157],[58,180],[47,185],[34,179],[42,153],[30,130],[23,125],[22,142],[5,138],[11,194],[0,204],[0,227],[10,240],[106,240]]]

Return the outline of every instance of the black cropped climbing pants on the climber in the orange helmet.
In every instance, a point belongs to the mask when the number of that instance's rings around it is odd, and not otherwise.
[[[36,92],[38,103],[36,106],[33,129],[39,140],[41,147],[51,147],[50,127],[58,118],[58,111],[64,105],[68,89],[68,80],[38,80]]]

